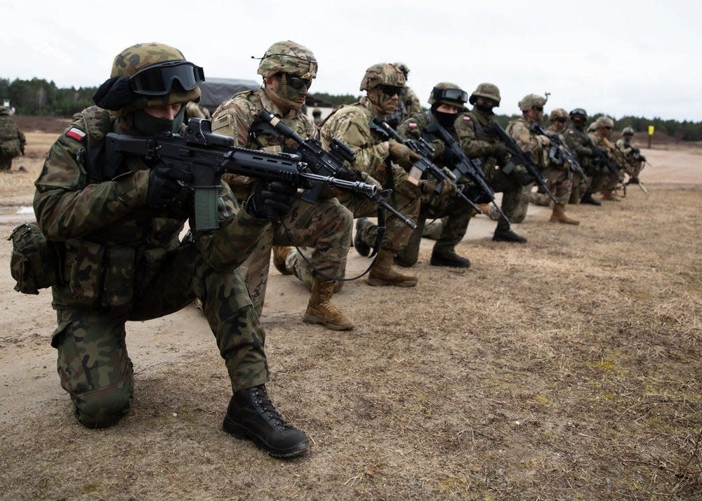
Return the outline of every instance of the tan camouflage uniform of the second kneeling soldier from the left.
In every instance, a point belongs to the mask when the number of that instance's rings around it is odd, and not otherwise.
[[[213,113],[212,129],[218,134],[234,138],[235,145],[267,152],[293,152],[297,144],[286,140],[256,117],[261,109],[280,116],[287,126],[303,138],[314,137],[317,128],[312,120],[298,109],[284,114],[263,88],[234,95]],[[225,176],[239,201],[252,192],[253,180],[240,176]],[[319,199],[307,203],[296,196],[291,211],[280,223],[272,224],[260,236],[256,251],[242,268],[256,312],[263,309],[270,266],[272,246],[305,246],[312,250],[310,262],[326,276],[343,277],[346,255],[351,244],[352,215],[337,199]]]

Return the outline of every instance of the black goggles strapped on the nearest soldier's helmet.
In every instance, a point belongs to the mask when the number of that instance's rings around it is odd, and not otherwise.
[[[192,62],[168,61],[140,69],[129,77],[129,88],[139,95],[166,95],[176,81],[180,86],[176,90],[192,91],[204,80],[204,71]]]

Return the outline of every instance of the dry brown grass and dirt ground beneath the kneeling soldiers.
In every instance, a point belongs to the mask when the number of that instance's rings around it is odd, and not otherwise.
[[[29,132],[26,173],[0,177],[0,230],[32,218],[56,133]],[[350,333],[301,321],[307,292],[272,269],[268,388],[310,436],[274,460],[221,431],[230,386],[199,311],[129,323],[131,413],[77,424],[55,370],[51,294],[21,295],[0,260],[0,498],[702,499],[702,149],[643,149],[621,203],[531,206],[529,243],[481,215],[416,288],[348,283]],[[351,250],[348,273],[369,264]]]

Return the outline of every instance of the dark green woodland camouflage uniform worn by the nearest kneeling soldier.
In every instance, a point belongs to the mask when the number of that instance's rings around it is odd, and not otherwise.
[[[131,405],[133,369],[124,323],[154,319],[200,298],[225,359],[232,389],[269,378],[265,333],[235,267],[256,246],[267,222],[239,212],[220,187],[220,229],[180,234],[192,201],[146,206],[149,165],[128,159],[117,176],[91,166],[105,133],[138,135],[91,107],[77,115],[48,152],[35,183],[34,212],[48,239],[62,243],[63,283],[52,288],[58,327],[58,372],[80,422],[109,426]]]

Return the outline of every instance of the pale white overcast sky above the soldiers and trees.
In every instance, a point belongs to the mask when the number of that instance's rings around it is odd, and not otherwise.
[[[180,48],[206,76],[258,80],[251,56],[291,39],[319,62],[312,92],[358,95],[367,67],[403,61],[424,105],[440,81],[469,94],[489,81],[499,113],[548,91],[547,111],[702,121],[699,0],[0,0],[0,11],[11,80],[98,86],[114,55],[146,41]]]

